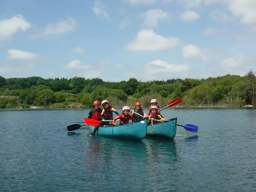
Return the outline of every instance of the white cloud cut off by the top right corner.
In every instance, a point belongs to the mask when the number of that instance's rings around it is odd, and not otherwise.
[[[229,10],[241,17],[241,23],[256,23],[256,0],[230,0]]]

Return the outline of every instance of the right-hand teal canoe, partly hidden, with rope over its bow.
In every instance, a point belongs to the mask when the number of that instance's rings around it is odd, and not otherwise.
[[[159,122],[153,126],[148,125],[147,137],[165,137],[173,139],[176,135],[177,117],[169,119],[165,122]]]

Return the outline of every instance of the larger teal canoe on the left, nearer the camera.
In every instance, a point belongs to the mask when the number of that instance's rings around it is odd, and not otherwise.
[[[148,118],[125,125],[100,126],[95,135],[142,140],[146,136],[147,125]],[[93,125],[89,126],[90,133],[93,132],[94,128]]]

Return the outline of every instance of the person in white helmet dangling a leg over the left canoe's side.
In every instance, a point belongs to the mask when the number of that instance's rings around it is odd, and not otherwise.
[[[107,100],[102,101],[102,106],[104,107],[104,109],[102,110],[102,113],[101,113],[102,122],[105,122],[106,120],[112,120],[113,119],[113,112],[116,113],[117,116],[119,116],[119,113],[114,108],[109,106],[109,103],[108,103]],[[111,121],[106,122],[106,123],[111,123]],[[90,136],[95,135],[96,131],[99,129],[99,126],[100,125],[98,125],[94,128],[93,133],[90,134]]]

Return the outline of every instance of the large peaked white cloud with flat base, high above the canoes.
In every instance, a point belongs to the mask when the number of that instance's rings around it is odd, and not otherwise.
[[[176,47],[179,44],[179,38],[163,37],[151,29],[142,29],[126,48],[130,51],[159,51]]]

